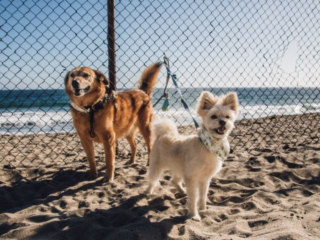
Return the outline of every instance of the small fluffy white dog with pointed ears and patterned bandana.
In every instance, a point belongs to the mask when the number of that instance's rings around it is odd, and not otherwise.
[[[172,184],[187,194],[188,215],[199,221],[197,200],[200,210],[206,209],[206,195],[209,181],[220,171],[222,161],[229,153],[227,136],[233,128],[238,113],[238,99],[235,92],[213,96],[203,91],[196,111],[202,118],[197,135],[183,136],[169,119],[153,124],[153,148],[150,153],[148,186],[144,193],[153,192],[163,170],[169,169]]]

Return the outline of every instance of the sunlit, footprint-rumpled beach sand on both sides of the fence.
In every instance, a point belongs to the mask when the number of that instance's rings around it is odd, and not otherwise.
[[[114,181],[102,183],[101,146],[99,178],[87,181],[75,133],[0,136],[0,239],[320,239],[319,129],[319,113],[237,121],[200,222],[185,216],[187,198],[169,172],[153,194],[140,194],[141,144],[136,163],[126,165],[121,141]]]

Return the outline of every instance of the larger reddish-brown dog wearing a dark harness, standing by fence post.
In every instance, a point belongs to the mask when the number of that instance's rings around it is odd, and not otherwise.
[[[150,95],[156,83],[161,63],[147,67],[139,79],[139,89],[119,91],[107,96],[108,80],[102,72],[89,67],[75,67],[64,78],[70,97],[73,124],[89,161],[90,179],[97,177],[93,141],[101,142],[105,152],[103,182],[112,181],[115,141],[125,137],[131,148],[129,163],[135,162],[137,128],[148,151],[151,150],[151,121],[153,119]],[[149,161],[149,160],[148,160]]]

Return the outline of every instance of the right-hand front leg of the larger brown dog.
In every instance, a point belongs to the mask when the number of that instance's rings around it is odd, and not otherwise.
[[[106,134],[103,140],[103,148],[105,154],[105,176],[102,182],[113,180],[114,174],[114,157],[115,157],[115,135],[112,133]]]

